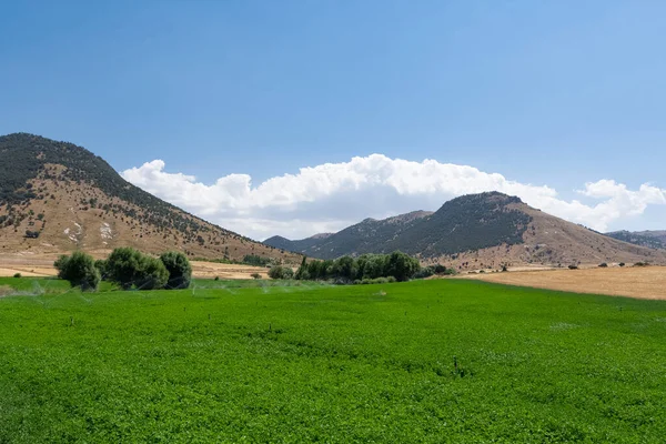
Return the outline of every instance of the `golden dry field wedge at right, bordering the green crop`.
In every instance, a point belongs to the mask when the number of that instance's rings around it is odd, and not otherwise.
[[[666,300],[666,266],[515,271],[461,278],[576,293]]]

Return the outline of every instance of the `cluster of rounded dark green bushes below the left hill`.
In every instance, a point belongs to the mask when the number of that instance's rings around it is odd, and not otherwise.
[[[60,279],[83,291],[97,290],[100,280],[123,290],[186,289],[192,280],[190,261],[180,252],[167,252],[158,259],[132,248],[119,248],[105,260],[94,261],[78,251],[60,256],[54,265]]]

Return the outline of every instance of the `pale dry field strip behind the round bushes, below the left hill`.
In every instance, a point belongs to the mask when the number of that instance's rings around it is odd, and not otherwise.
[[[26,278],[54,276],[57,274],[53,268],[56,259],[58,259],[57,254],[0,255],[0,276],[12,276],[16,273],[21,273]],[[194,278],[252,279],[253,273],[259,273],[265,279],[268,278],[268,269],[261,266],[192,261],[192,274]]]

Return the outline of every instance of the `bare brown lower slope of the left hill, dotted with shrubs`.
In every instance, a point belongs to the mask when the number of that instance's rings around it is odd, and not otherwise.
[[[62,169],[60,165],[47,167]],[[292,264],[299,264],[302,260],[300,254],[251,241],[178,209],[173,209],[174,215],[195,221],[198,231],[151,224],[144,218],[151,214],[149,210],[111,198],[90,183],[46,179],[43,171],[30,183],[43,199],[32,199],[12,206],[13,214],[24,219],[17,225],[0,225],[2,254],[43,255],[83,250],[95,255],[108,254],[117,246],[133,246],[151,254],[182,251],[191,259],[226,256],[240,261],[248,254],[255,254]],[[90,204],[91,199],[97,200],[94,205]],[[108,205],[120,205],[135,216],[113,211]],[[9,205],[0,205],[2,215],[10,215]],[[39,238],[26,238],[27,231],[38,231]]]

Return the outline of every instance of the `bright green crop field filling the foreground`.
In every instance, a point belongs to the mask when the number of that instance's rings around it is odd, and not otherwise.
[[[2,285],[22,293],[0,299],[0,443],[666,436],[666,302],[462,280]]]

